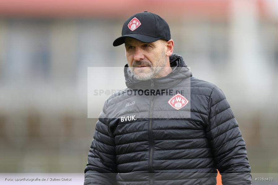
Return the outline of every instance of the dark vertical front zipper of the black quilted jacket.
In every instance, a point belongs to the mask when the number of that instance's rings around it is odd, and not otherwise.
[[[151,89],[153,89],[154,83],[153,80],[151,80]],[[153,101],[155,96],[151,100],[151,107],[150,107],[150,116],[149,116],[149,144],[150,144],[150,153],[149,153],[149,184],[153,185],[153,168],[152,168],[152,162],[153,162],[153,137],[152,137],[152,113],[153,113]]]

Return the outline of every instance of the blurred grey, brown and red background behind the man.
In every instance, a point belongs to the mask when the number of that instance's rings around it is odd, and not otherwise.
[[[223,90],[251,172],[278,173],[277,0],[1,1],[1,173],[83,173],[96,124],[87,68],[124,67],[112,43],[142,11],[168,22],[193,76]]]

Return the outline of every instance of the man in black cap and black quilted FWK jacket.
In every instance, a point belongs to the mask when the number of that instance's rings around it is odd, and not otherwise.
[[[222,90],[192,76],[173,54],[168,24],[140,12],[123,25],[127,88],[96,123],[88,184],[251,184],[245,142]]]

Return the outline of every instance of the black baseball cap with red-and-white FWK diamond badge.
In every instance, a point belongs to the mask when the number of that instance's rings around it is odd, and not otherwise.
[[[159,39],[170,40],[170,28],[159,15],[144,11],[132,15],[122,27],[122,36],[114,40],[113,46],[125,42],[126,37],[131,37],[141,42],[150,43]]]

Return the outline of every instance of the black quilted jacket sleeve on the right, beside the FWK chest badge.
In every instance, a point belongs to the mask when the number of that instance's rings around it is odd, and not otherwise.
[[[208,119],[207,139],[222,184],[252,184],[245,142],[224,93],[216,86],[210,96]]]

